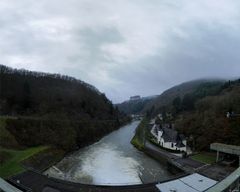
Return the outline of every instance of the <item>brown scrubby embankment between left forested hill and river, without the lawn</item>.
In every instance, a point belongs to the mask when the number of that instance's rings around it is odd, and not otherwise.
[[[65,151],[96,142],[119,126],[115,120],[70,121],[31,117],[5,118],[4,125],[21,146],[51,145]]]

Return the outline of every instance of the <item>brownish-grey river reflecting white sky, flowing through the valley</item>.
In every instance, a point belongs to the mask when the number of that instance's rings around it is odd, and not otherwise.
[[[171,174],[131,145],[139,121],[110,133],[99,142],[65,157],[45,174],[72,182],[131,185],[167,179]]]

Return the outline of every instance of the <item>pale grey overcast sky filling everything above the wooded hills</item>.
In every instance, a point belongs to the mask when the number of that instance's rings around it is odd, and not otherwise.
[[[0,63],[62,73],[114,103],[239,77],[239,0],[0,0]]]

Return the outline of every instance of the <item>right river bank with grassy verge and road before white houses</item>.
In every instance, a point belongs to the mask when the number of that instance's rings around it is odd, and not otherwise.
[[[168,170],[176,175],[199,173],[216,181],[227,177],[235,168],[222,166],[215,163],[216,155],[201,152],[187,157],[179,157],[174,153],[164,150],[148,139],[148,121],[144,119],[136,129],[131,143],[146,155],[165,164]],[[204,155],[205,154],[205,155]]]

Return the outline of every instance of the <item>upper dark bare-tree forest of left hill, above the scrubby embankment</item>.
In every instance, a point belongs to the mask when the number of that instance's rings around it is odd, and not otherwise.
[[[72,77],[0,65],[0,114],[116,119],[118,111],[95,87]]]

